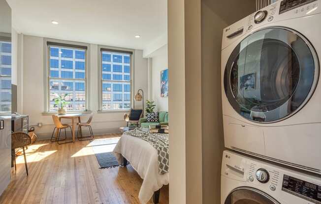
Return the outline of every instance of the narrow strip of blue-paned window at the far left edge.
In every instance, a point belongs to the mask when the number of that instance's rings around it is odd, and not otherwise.
[[[0,40],[0,112],[11,111],[11,42]]]

